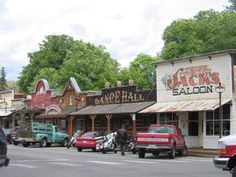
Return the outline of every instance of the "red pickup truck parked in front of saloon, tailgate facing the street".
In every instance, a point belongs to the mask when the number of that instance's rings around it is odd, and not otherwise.
[[[184,137],[175,125],[152,124],[147,133],[136,135],[136,148],[139,158],[144,158],[146,152],[158,156],[161,152],[168,153],[174,159],[176,152],[180,156],[187,155],[187,146]]]

